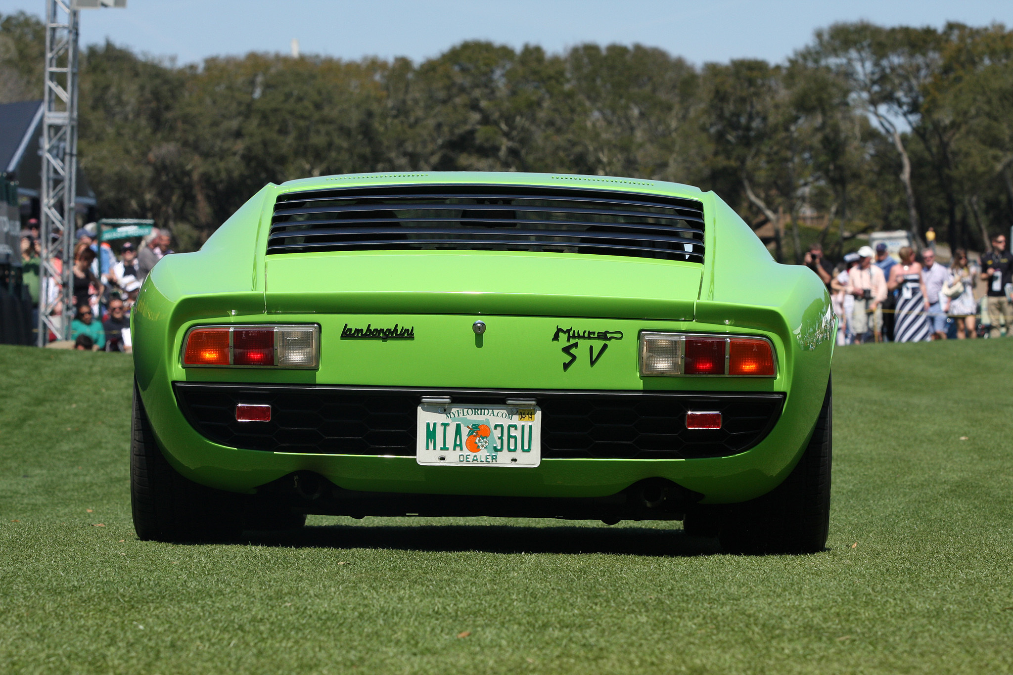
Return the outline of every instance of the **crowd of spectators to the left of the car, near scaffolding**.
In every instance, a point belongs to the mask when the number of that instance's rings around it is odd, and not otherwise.
[[[140,251],[133,242],[125,241],[118,255],[109,242],[98,241],[96,235],[94,223],[76,233],[71,269],[72,307],[64,308],[60,302],[63,285],[59,278],[53,277],[47,284],[49,300],[55,303],[53,316],[70,322],[74,349],[131,351],[130,313],[148,272],[162,256],[172,253],[171,237],[167,231],[152,229],[141,241]],[[36,322],[41,256],[38,224],[32,220],[21,231],[21,259],[22,278],[31,293]],[[54,258],[51,262],[62,273],[62,260]],[[51,342],[58,341],[56,335],[49,337]]]

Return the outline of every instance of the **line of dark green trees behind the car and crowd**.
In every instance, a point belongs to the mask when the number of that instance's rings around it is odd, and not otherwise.
[[[41,98],[45,33],[0,16],[0,102]],[[81,54],[80,166],[102,217],[201,244],[267,181],[546,171],[712,189],[775,255],[929,227],[984,250],[1013,222],[1013,31],[837,23],[781,64],[640,45],[465,41],[413,63]]]

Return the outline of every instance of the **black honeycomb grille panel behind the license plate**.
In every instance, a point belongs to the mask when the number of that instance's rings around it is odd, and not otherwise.
[[[542,457],[691,458],[736,454],[759,443],[781,415],[782,394],[509,392],[176,383],[189,423],[207,438],[276,452],[414,456],[420,397],[455,403],[538,399]],[[237,403],[266,403],[270,422],[240,423]],[[720,430],[689,430],[686,412],[718,411]]]

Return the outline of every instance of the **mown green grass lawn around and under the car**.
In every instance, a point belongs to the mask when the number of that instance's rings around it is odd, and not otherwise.
[[[1011,353],[839,349],[829,550],[750,558],[678,523],[138,541],[130,359],[0,346],[0,672],[1010,672]]]

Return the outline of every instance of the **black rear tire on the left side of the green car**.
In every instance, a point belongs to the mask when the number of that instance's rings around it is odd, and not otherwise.
[[[131,507],[139,538],[215,541],[242,532],[242,496],[193,483],[169,465],[155,442],[137,385],[130,458]]]

